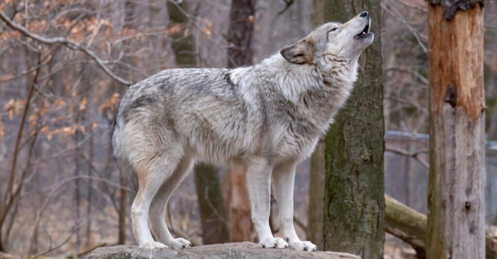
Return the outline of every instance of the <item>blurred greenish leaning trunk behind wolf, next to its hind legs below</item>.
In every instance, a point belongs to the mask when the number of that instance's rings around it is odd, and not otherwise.
[[[167,1],[167,11],[171,25],[178,26],[178,29],[172,34],[172,50],[176,65],[197,66],[195,38],[191,34],[191,30],[187,30],[189,20],[183,13],[183,11],[188,12],[187,2]],[[202,222],[203,243],[207,245],[228,242],[229,232],[218,170],[212,166],[198,165],[195,167],[194,174]]]

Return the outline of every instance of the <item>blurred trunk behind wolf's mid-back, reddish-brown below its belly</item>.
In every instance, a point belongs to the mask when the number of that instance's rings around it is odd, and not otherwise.
[[[252,64],[250,43],[255,15],[254,0],[233,0],[230,9],[228,39],[228,67]],[[227,208],[230,226],[230,241],[252,241],[253,225],[250,217],[246,172],[239,168],[227,170]]]

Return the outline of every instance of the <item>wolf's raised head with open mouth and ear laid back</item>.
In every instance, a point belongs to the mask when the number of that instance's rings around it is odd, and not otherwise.
[[[287,61],[295,64],[353,61],[373,42],[374,35],[369,32],[370,27],[369,13],[363,11],[344,24],[329,22],[321,25],[280,53]]]

